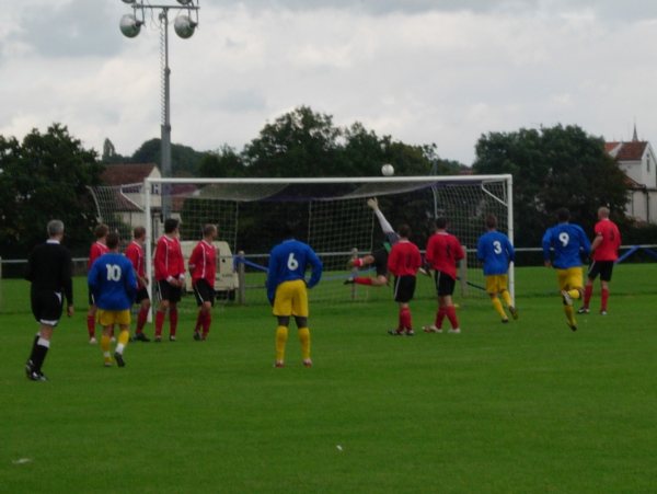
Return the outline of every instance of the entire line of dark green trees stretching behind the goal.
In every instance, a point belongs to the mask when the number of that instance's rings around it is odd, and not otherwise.
[[[609,206],[625,234],[641,237],[623,212],[624,174],[602,138],[556,125],[482,135],[475,151],[469,168],[441,158],[435,143],[404,143],[360,123],[339,127],[331,115],[300,106],[267,123],[241,151],[173,145],[172,164],[174,176],[206,177],[379,176],[382,163],[393,163],[396,175],[510,173],[519,246],[540,244],[563,206],[587,231],[597,208]],[[53,217],[65,221],[69,246],[84,255],[96,216],[88,186],[101,184],[106,165],[160,161],[159,139],[124,157],[108,139],[101,156],[84,149],[61,124],[34,129],[22,141],[0,136],[0,255],[25,257]]]

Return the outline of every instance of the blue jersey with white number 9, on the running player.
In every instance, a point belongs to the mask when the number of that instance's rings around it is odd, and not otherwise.
[[[581,266],[581,253],[589,254],[591,243],[579,225],[558,223],[549,228],[543,235],[543,259],[550,260],[550,249],[554,250],[552,265],[558,269]]]

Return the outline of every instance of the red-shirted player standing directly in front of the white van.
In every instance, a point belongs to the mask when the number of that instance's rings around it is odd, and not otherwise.
[[[192,275],[192,287],[198,306],[194,340],[205,341],[210,331],[212,307],[215,306],[215,277],[217,275],[217,249],[212,241],[218,230],[215,225],[206,225],[203,240],[196,244],[189,256],[188,266]],[[203,329],[203,335],[201,335]]]

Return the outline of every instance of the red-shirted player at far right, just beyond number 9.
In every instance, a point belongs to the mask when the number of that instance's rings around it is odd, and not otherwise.
[[[589,313],[589,302],[593,292],[593,282],[600,275],[600,313],[607,315],[607,301],[609,300],[609,282],[613,264],[619,259],[621,246],[621,232],[619,227],[609,219],[609,208],[598,209],[598,222],[593,228],[596,238],[591,243],[591,264],[588,268],[587,280],[584,287],[584,305],[577,311],[580,314]]]

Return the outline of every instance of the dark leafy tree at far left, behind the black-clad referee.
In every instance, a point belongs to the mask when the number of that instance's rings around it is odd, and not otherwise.
[[[100,184],[103,165],[67,127],[33,129],[22,143],[0,136],[0,254],[25,256],[45,237],[48,220],[61,219],[66,241],[85,249],[95,223],[87,186]]]

